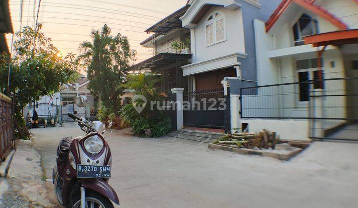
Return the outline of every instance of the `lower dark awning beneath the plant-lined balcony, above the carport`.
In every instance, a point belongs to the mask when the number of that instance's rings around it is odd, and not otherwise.
[[[168,66],[170,64],[176,63],[181,60],[187,60],[191,58],[191,54],[182,54],[182,53],[159,53],[151,58],[148,58],[140,63],[137,63],[128,68],[129,71],[132,70],[144,70],[144,69],[156,69],[163,66]]]

